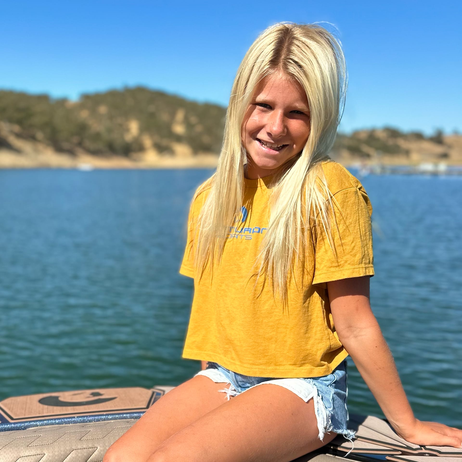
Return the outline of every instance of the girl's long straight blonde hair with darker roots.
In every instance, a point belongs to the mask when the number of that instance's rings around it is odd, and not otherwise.
[[[203,274],[219,261],[227,231],[243,206],[247,153],[242,141],[246,109],[265,76],[281,72],[304,88],[310,106],[310,135],[303,151],[281,169],[272,188],[270,219],[257,265],[287,303],[295,257],[306,245],[309,221],[316,217],[330,242],[332,201],[321,162],[334,144],[346,92],[345,59],[340,42],[318,24],[279,23],[264,30],[244,56],[232,86],[218,168],[195,230],[195,265]],[[203,189],[202,189],[203,190]],[[199,190],[197,194],[200,194]]]

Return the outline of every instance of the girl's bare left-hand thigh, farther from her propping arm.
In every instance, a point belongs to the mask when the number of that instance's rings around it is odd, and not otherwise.
[[[103,462],[146,462],[167,438],[223,404],[226,394],[218,390],[225,385],[197,376],[174,388],[109,447]]]

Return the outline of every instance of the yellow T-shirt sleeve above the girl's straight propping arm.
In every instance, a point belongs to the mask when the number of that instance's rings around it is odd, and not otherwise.
[[[359,276],[373,276],[372,207],[364,188],[341,189],[334,194],[331,220],[333,248],[326,232],[318,226],[315,242],[313,284]]]

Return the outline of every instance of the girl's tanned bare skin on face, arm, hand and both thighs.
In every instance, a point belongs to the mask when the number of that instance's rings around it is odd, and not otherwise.
[[[310,129],[309,113],[299,111],[304,104],[307,109],[300,85],[285,76],[257,88],[243,124],[247,177],[268,176],[301,151]],[[271,152],[260,149],[259,140],[286,146]],[[461,447],[461,430],[414,417],[371,310],[369,276],[328,282],[328,294],[339,339],[398,435],[415,444]],[[313,400],[265,384],[227,401],[218,391],[225,385],[203,376],[182,383],[122,435],[103,462],[283,462],[335,437],[328,432],[319,440]]]

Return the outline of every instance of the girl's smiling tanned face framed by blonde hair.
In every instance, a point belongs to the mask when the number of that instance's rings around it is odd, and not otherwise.
[[[271,175],[305,146],[310,134],[308,99],[294,79],[274,73],[261,80],[242,126],[246,177]]]

